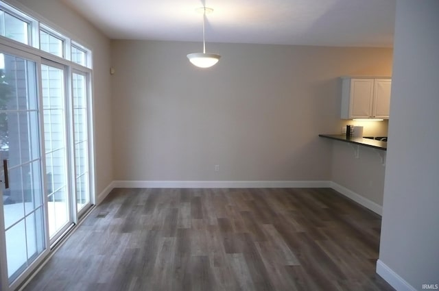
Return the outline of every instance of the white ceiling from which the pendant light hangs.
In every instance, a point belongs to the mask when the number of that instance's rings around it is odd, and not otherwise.
[[[396,0],[62,0],[112,39],[392,47]]]

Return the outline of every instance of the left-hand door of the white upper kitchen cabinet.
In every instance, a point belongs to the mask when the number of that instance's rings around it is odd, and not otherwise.
[[[350,118],[372,116],[374,79],[351,79]]]

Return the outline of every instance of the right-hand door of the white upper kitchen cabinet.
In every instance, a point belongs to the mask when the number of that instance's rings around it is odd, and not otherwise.
[[[389,118],[392,80],[375,79],[372,117]]]

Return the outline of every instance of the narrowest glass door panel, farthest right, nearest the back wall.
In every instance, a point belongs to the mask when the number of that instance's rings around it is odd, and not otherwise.
[[[76,205],[77,211],[80,212],[86,205],[90,205],[86,75],[72,74],[72,90]]]

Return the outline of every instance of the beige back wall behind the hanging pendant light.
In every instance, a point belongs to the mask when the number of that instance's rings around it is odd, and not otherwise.
[[[391,49],[112,41],[117,180],[331,179],[341,75],[391,75]],[[214,165],[219,164],[215,172]]]

